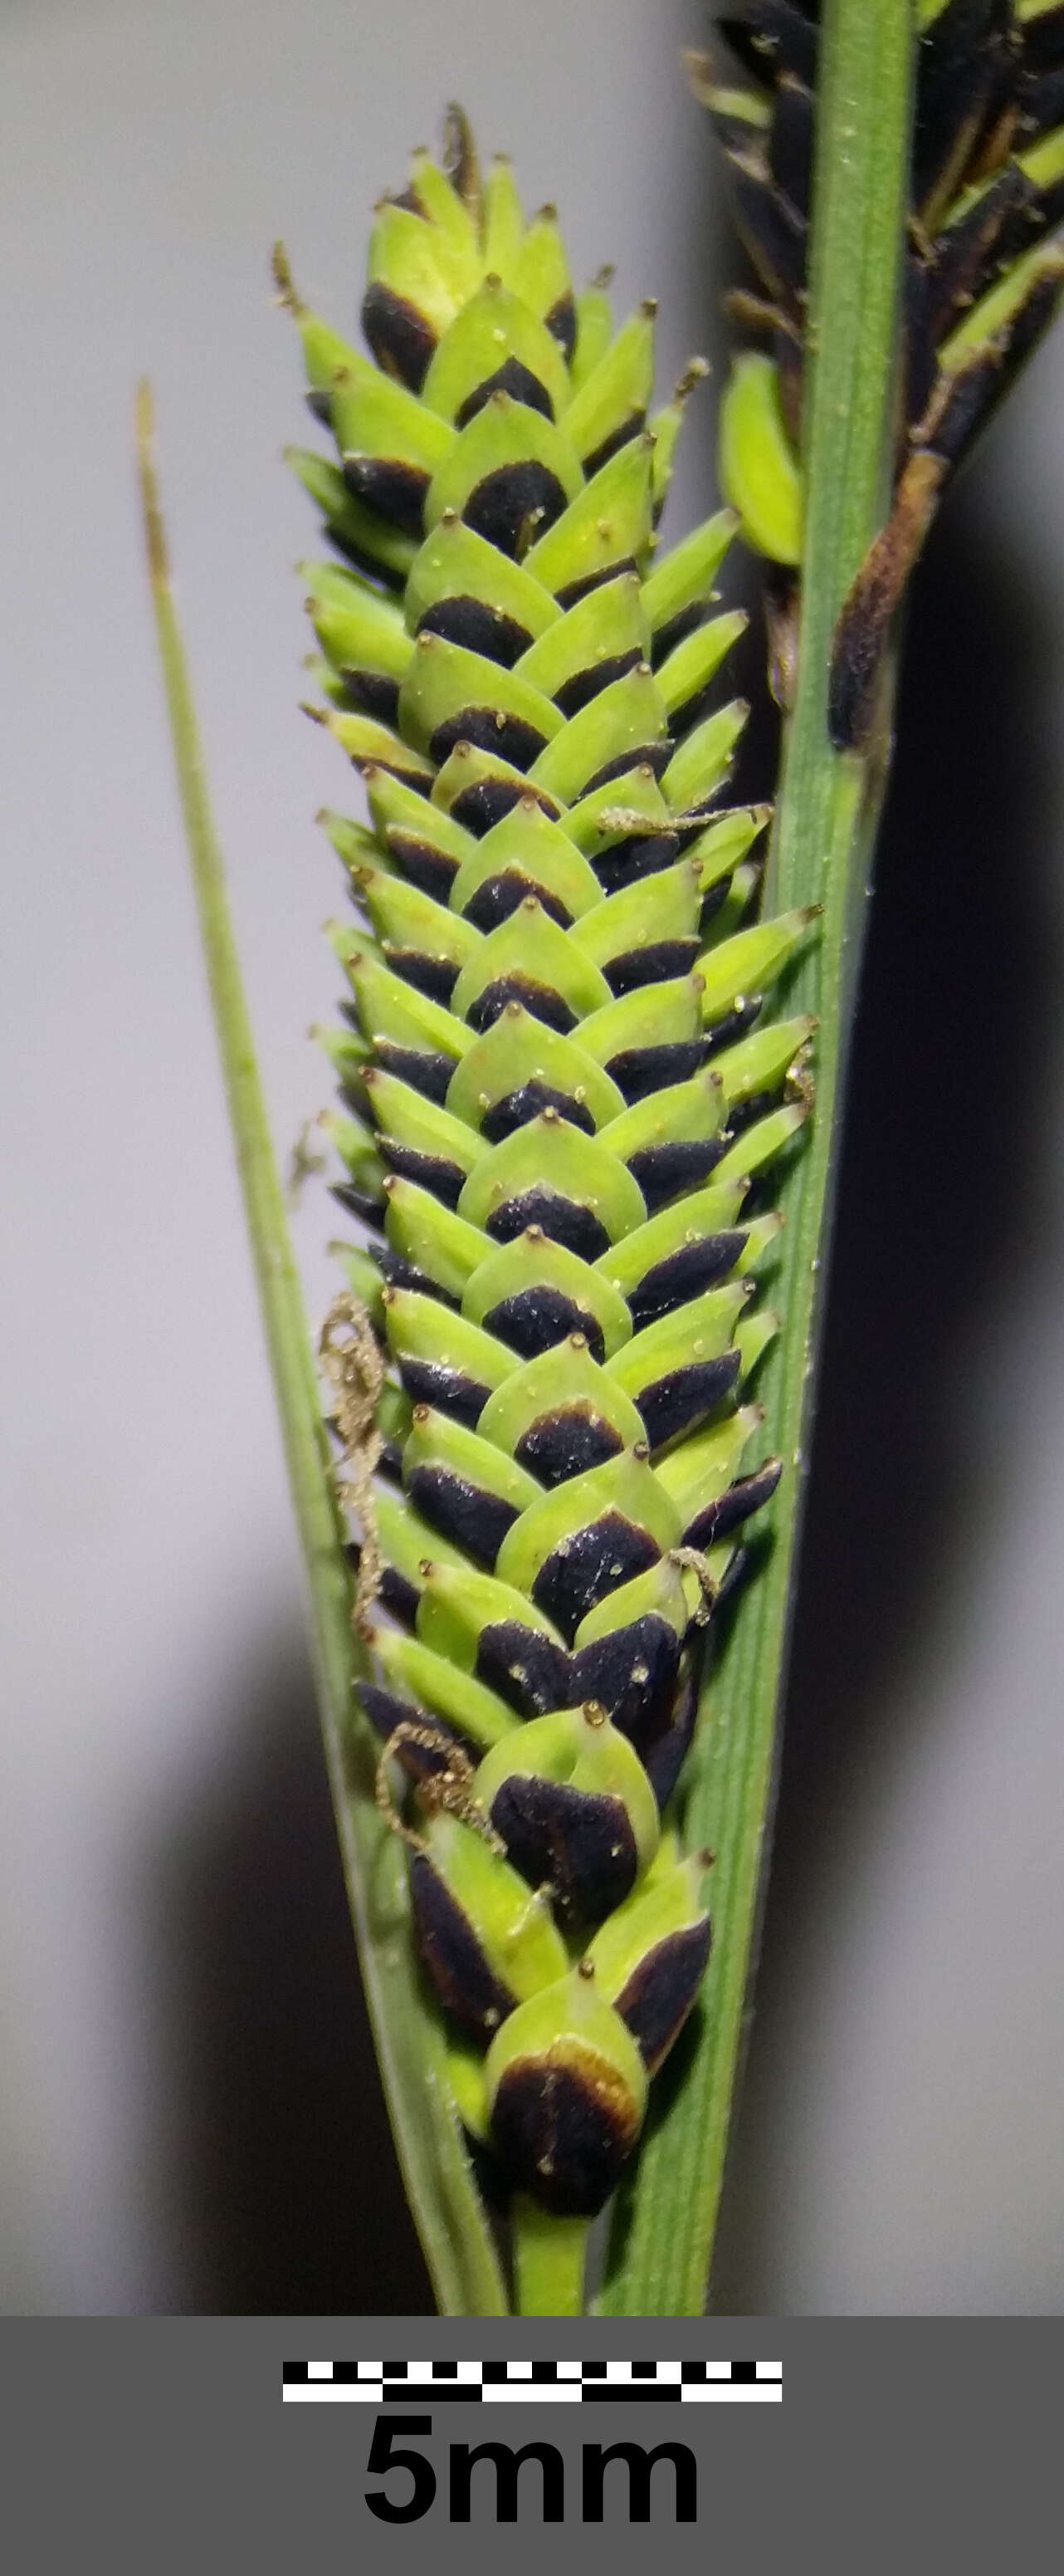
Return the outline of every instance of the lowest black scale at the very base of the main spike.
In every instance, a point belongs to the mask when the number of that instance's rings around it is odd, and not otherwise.
[[[595,2084],[590,2069],[518,2058],[497,2087],[492,2136],[518,2190],[554,2218],[595,2218],[621,2179],[639,2117],[626,2089]]]

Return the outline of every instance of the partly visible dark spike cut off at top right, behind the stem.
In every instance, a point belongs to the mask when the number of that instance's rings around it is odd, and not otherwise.
[[[719,464],[745,538],[773,567],[775,644],[801,562],[819,15],[796,0],[739,0],[721,23],[721,57],[688,57],[760,289],[732,299],[760,345],[734,358]],[[943,492],[1064,294],[1061,0],[920,0],[915,15],[894,495],[837,623],[830,726],[842,752],[868,747],[884,652]],[[778,696],[788,706],[786,677]]]

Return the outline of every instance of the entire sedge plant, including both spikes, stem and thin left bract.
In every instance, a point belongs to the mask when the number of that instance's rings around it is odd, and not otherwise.
[[[729,507],[672,551],[703,363],[652,410],[654,307],[613,332],[611,270],[572,291],[554,209],[526,222],[459,111],[376,206],[368,358],[276,250],[335,440],[289,451],[330,546],[301,564],[307,711],[368,799],[319,817],[356,907],[322,1131],[363,1229],[335,1247],[325,1419],[139,417],[366,1996],[433,2287],[466,2316],[505,2313],[502,2208],[515,2313],[582,2313],[621,2177],[598,2306],[703,2306],[897,608],[1064,289],[1064,0],[734,0],[690,80],[752,286]],[[775,817],[721,804],[737,528],[768,567]]]

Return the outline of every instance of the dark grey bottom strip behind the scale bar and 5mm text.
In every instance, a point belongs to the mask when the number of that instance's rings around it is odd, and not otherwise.
[[[554,2349],[657,2357],[662,2344],[783,2362],[781,2406],[435,2406],[428,2455],[441,2476],[433,2512],[381,2524],[366,2504],[376,2409],[283,2406],[283,2357],[526,2354]],[[765,2352],[765,2344],[773,2352]],[[997,2576],[1002,2563],[1043,2566],[1059,2514],[1059,2324],[1010,2318],[556,2321],[394,2318],[75,2318],[0,2321],[0,2406],[8,2434],[5,2527],[18,2568],[52,2576],[106,2527],[108,2566],[149,2561],[160,2576],[188,2563],[255,2566],[350,2561],[394,2576],[461,2566],[515,2576],[544,2566],[582,2576],[577,2455],[585,2442],[683,2439],[698,2460],[698,2524],[672,2524],[670,2470],[654,2470],[652,2530],[623,2519],[623,2470],[608,2470],[611,2568],[667,2550],[678,2576],[706,2561],[775,2576],[814,2535],[824,2576],[894,2576],[899,2566]],[[425,2409],[415,2409],[425,2414]],[[392,2406],[389,2406],[392,2414]],[[518,2524],[495,2524],[492,2470],[474,2473],[474,2519],[448,2532],[448,2442],[549,2439],[567,2463],[564,2527],[538,2519],[538,2470],[520,2470]],[[57,2458],[62,2476],[54,2473]],[[482,2483],[484,2481],[484,2483]],[[662,2486],[660,2486],[662,2481]],[[376,2481],[371,2481],[376,2483]],[[389,2478],[399,2496],[407,2481]],[[209,2537],[206,2537],[209,2535]],[[915,2537],[917,2535],[917,2537]],[[356,2558],[356,2563],[361,2563]]]

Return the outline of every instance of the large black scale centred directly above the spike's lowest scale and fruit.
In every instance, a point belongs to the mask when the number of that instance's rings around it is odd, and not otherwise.
[[[639,1852],[621,1798],[510,1772],[492,1798],[492,1824],[531,1888],[551,1888],[564,1924],[598,1924],[636,1883]]]

